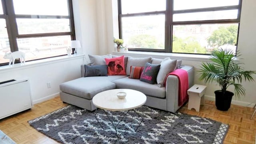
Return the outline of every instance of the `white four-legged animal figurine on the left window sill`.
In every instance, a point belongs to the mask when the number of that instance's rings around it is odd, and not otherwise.
[[[20,63],[22,64],[23,62],[23,64],[25,64],[25,52],[16,51],[16,52],[9,52],[4,55],[4,59],[10,59],[9,66],[11,65],[11,63],[12,63],[12,66],[14,66],[14,62],[16,58],[20,58]]]

